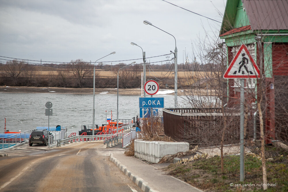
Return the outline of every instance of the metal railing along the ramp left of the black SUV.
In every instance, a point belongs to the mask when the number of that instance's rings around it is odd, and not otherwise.
[[[21,133],[16,133],[11,136],[0,138],[0,150],[7,149],[9,147],[28,141],[31,132],[32,130],[28,130]]]

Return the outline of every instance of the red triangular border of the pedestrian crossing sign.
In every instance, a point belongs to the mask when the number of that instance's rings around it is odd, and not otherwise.
[[[246,53],[247,53],[250,61],[251,61],[252,64],[253,64],[253,67],[254,67],[254,69],[257,71],[258,75],[228,75],[228,73],[230,72],[230,70],[231,70],[232,67],[234,66],[236,60],[238,59],[238,57],[239,57],[239,55],[240,55],[240,53],[241,53],[241,51],[242,51],[243,49],[246,51]],[[259,75],[259,74],[260,74],[260,70],[259,70],[258,66],[256,65],[254,59],[252,58],[250,52],[248,51],[247,46],[246,46],[245,44],[242,44],[241,47],[240,47],[240,49],[239,49],[239,51],[237,52],[236,56],[234,57],[234,59],[232,60],[232,62],[230,63],[230,65],[228,66],[228,69],[227,69],[226,72],[224,73],[223,78],[225,78],[225,79],[250,79],[250,78],[255,79],[255,78],[260,78],[260,75]]]

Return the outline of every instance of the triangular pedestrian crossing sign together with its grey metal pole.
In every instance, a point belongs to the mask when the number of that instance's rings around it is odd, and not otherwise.
[[[260,77],[260,70],[246,45],[241,45],[236,56],[224,73],[225,79],[240,79],[240,181],[244,181],[244,84],[245,79]]]

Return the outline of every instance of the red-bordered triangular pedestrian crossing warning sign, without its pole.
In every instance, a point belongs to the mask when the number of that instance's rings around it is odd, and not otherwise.
[[[226,79],[259,78],[260,70],[246,45],[241,45],[223,77]]]

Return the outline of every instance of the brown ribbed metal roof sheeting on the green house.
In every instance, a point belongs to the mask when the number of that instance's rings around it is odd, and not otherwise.
[[[288,30],[287,0],[242,0],[252,30]]]

